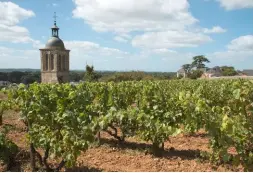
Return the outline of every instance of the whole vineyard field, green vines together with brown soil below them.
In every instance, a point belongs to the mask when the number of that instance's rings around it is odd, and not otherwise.
[[[249,80],[35,83],[3,89],[0,106],[1,129],[20,126],[2,145],[32,171],[252,170]]]

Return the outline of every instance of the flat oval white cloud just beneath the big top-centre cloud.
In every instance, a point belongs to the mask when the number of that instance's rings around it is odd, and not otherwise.
[[[141,48],[163,49],[179,47],[197,47],[212,41],[212,39],[201,33],[188,31],[150,32],[136,36],[132,45]]]

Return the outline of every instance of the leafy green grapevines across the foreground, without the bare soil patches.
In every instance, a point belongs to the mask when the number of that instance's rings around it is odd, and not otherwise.
[[[147,152],[161,157],[166,142],[199,131],[205,132],[210,147],[199,152],[199,158],[252,171],[253,83],[249,80],[35,83],[2,92],[8,99],[0,100],[1,119],[5,111],[20,112],[33,171],[75,166],[81,153],[101,144],[101,134],[118,145],[132,137],[150,143]],[[11,155],[17,148],[6,133],[0,133],[0,148]]]

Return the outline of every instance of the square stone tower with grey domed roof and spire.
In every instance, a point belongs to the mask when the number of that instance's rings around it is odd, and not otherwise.
[[[59,38],[59,28],[56,25],[56,15],[52,37],[46,47],[40,49],[41,83],[69,82],[69,52],[65,49],[63,41]]]

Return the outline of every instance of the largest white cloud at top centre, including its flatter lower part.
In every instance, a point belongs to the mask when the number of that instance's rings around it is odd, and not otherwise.
[[[134,47],[197,47],[212,40],[202,29],[193,31],[198,20],[189,11],[187,0],[74,0],[74,3],[73,17],[83,19],[95,31],[116,33],[117,42],[130,42],[130,34],[135,35],[131,41]],[[214,27],[206,32],[224,29]]]

